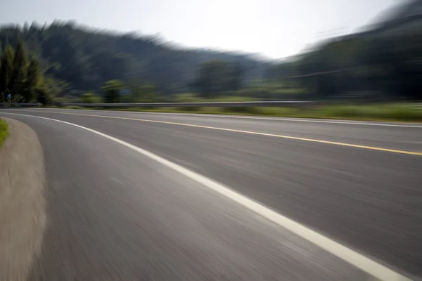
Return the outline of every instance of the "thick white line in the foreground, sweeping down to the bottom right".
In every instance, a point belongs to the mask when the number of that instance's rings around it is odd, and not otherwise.
[[[269,221],[272,221],[273,223],[276,223],[277,225],[290,230],[292,233],[295,233],[296,235],[304,238],[305,240],[308,240],[309,242],[316,244],[321,249],[324,249],[330,252],[331,254],[338,256],[340,259],[343,259],[347,263],[351,263],[353,266],[359,268],[360,270],[363,270],[364,272],[368,273],[369,275],[372,275],[373,277],[376,277],[378,280],[385,280],[385,281],[409,281],[410,280],[404,275],[396,273],[390,268],[383,266],[381,263],[377,263],[376,261],[373,261],[372,259],[369,259],[368,257],[362,254],[359,254],[357,251],[349,249],[343,246],[342,244],[339,244],[338,242],[335,242],[329,239],[328,237],[325,237],[324,235],[316,233],[314,230],[311,230],[305,226],[302,226],[302,224],[296,221],[293,221],[292,219],[287,218],[286,216],[283,216],[281,214],[276,213],[275,211],[272,211],[271,209],[265,207],[264,205],[260,203],[250,200],[248,197],[245,197],[244,195],[234,192],[233,190],[231,190],[230,188],[227,188],[222,183],[213,181],[212,179],[207,178],[189,169],[186,169],[183,166],[180,166],[179,164],[170,162],[169,160],[164,159],[158,155],[155,155],[152,152],[149,152],[148,150],[144,150],[135,145],[122,141],[118,138],[114,138],[113,136],[106,135],[105,133],[101,133],[99,131],[89,129],[84,126],[80,126],[80,125],[73,124],[70,122],[61,121],[58,119],[52,119],[52,118],[40,117],[40,116],[34,116],[34,115],[23,115],[23,114],[10,113],[10,112],[0,112],[0,114],[20,115],[20,116],[35,117],[35,118],[40,118],[40,119],[47,119],[47,120],[75,126],[77,128],[90,131],[91,133],[96,133],[98,136],[103,136],[104,138],[108,138],[111,141],[115,141],[116,143],[119,143],[120,145],[124,145],[127,148],[130,148],[136,152],[141,153],[141,155],[149,157],[155,160],[156,162],[159,162],[160,164],[163,164],[173,169],[174,171],[178,171],[180,174],[183,174],[184,176],[187,176],[188,178],[191,178],[194,181],[197,181],[198,183],[205,185],[207,188],[210,188],[211,190],[218,192],[220,195],[223,195],[224,197],[227,197],[230,200],[233,200],[234,202],[241,204],[243,207],[250,209],[256,214],[260,214],[260,216],[267,218]]]

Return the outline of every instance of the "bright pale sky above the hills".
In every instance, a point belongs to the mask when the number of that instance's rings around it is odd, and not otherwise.
[[[5,4],[4,2],[7,2]],[[54,19],[283,58],[371,22],[397,0],[0,0],[3,23]]]

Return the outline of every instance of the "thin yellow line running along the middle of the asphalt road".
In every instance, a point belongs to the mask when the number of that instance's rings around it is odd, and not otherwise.
[[[13,110],[13,111],[44,112],[44,113],[56,113],[56,114],[62,114],[62,115],[81,115],[81,116],[88,116],[88,117],[101,117],[101,118],[124,119],[124,120],[161,123],[161,124],[172,124],[172,125],[190,126],[190,127],[203,128],[203,129],[213,129],[213,130],[219,130],[219,131],[231,131],[231,132],[236,132],[236,133],[249,133],[249,134],[252,134],[252,135],[259,135],[259,136],[272,136],[272,137],[276,137],[276,138],[288,138],[288,139],[291,139],[291,140],[309,141],[309,142],[312,142],[312,143],[326,143],[326,144],[330,144],[330,145],[341,145],[341,146],[347,146],[347,147],[350,147],[350,148],[363,148],[363,149],[367,149],[367,150],[378,150],[378,151],[384,151],[384,152],[393,152],[393,153],[400,153],[400,154],[407,154],[407,155],[422,156],[422,152],[414,152],[414,151],[407,151],[407,150],[394,150],[394,149],[390,149],[390,148],[378,148],[376,146],[369,146],[369,145],[355,145],[355,144],[352,144],[352,143],[339,143],[339,142],[336,142],[336,141],[316,140],[314,138],[299,138],[299,137],[295,137],[295,136],[276,135],[276,134],[273,134],[273,133],[259,133],[259,132],[254,132],[254,131],[243,131],[243,130],[236,130],[236,129],[226,129],[226,128],[219,128],[219,127],[213,127],[213,126],[202,126],[202,125],[177,123],[177,122],[137,119],[137,118],[128,118],[128,117],[115,117],[115,116],[106,116],[106,115],[89,115],[89,114],[83,114],[83,113],[56,112],[56,111],[40,111],[40,110],[37,110],[37,111],[34,111],[34,110]]]

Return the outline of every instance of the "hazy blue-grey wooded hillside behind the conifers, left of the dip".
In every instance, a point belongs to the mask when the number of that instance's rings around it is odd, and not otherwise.
[[[253,55],[188,50],[163,44],[157,37],[94,30],[75,22],[53,22],[0,27],[3,48],[21,38],[40,58],[47,74],[63,79],[77,91],[100,88],[110,79],[141,79],[160,86],[165,93],[188,91],[200,63],[219,59],[241,63],[247,80],[260,79],[266,63]]]

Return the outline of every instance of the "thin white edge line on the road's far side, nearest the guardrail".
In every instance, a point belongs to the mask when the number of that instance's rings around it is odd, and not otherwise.
[[[33,109],[37,111],[37,109]],[[66,110],[59,108],[43,108],[43,110]],[[328,123],[328,124],[345,124],[345,125],[363,125],[363,126],[390,126],[390,127],[404,127],[404,128],[420,128],[420,124],[390,124],[383,122],[356,122],[356,121],[336,121],[326,119],[296,119],[289,117],[251,117],[240,115],[210,115],[210,114],[195,114],[195,113],[171,113],[171,112],[141,112],[141,111],[117,111],[117,110],[74,110],[74,111],[89,111],[89,112],[113,112],[113,113],[131,113],[144,115],[179,115],[179,116],[195,116],[195,117],[212,117],[212,118],[236,118],[236,119],[252,119],[252,120],[273,120],[273,121],[287,121],[287,122],[309,122],[309,123]]]

